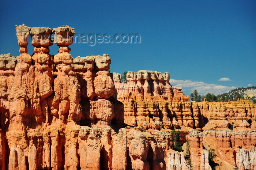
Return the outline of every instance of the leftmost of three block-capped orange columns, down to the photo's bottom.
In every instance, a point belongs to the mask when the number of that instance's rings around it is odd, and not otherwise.
[[[20,56],[15,67],[14,84],[8,96],[10,125],[6,133],[8,147],[11,149],[9,156],[9,169],[26,169],[27,151],[26,116],[30,114],[30,98],[33,95],[34,68],[31,64],[32,57],[27,53],[29,33],[31,28],[25,24],[16,26]],[[18,160],[18,163],[17,161]]]

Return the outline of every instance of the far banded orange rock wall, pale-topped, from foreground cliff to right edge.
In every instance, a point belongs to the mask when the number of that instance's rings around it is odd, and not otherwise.
[[[181,87],[171,86],[170,74],[127,72],[127,84],[114,73],[117,99],[124,103],[125,123],[145,129],[190,128],[256,129],[256,107],[245,100],[189,102]]]

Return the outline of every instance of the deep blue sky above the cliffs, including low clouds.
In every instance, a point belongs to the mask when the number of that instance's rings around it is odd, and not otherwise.
[[[141,42],[73,44],[73,57],[102,55],[111,72],[169,72],[185,95],[256,85],[256,1],[1,1],[0,53],[19,56],[15,25],[77,34],[139,34]],[[28,46],[33,53],[33,46]],[[52,45],[50,54],[57,54]],[[228,78],[228,79],[221,79]],[[228,81],[219,81],[219,80]]]

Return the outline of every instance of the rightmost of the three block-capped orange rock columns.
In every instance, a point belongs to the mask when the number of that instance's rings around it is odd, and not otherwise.
[[[60,48],[54,56],[57,78],[54,79],[55,96],[52,100],[52,114],[61,121],[79,121],[82,117],[80,109],[80,84],[73,72],[73,58],[68,47],[73,43],[74,28],[69,26],[54,28],[54,43]],[[53,122],[56,121],[53,120]]]

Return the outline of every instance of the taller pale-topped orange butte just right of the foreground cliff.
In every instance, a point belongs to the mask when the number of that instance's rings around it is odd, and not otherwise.
[[[114,73],[117,99],[124,103],[125,123],[145,129],[170,129],[177,128],[180,121],[193,127],[188,98],[169,80],[169,73],[142,70],[128,72],[125,84],[121,75]]]

